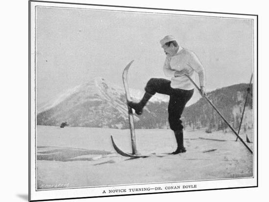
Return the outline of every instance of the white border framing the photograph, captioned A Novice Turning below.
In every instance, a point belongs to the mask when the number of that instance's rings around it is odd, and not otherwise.
[[[75,2],[75,1],[70,1]],[[80,1],[81,2],[81,1]],[[89,1],[85,1],[85,3],[89,3]],[[121,12],[148,12],[152,14],[163,14],[163,15],[195,15],[201,17],[217,17],[217,18],[239,18],[239,19],[251,19],[253,20],[254,25],[254,65],[253,65],[253,86],[257,88],[257,44],[256,44],[256,16],[245,16],[245,15],[234,15],[234,14],[216,14],[216,13],[200,13],[200,12],[186,12],[186,11],[171,11],[171,10],[153,10],[153,9],[139,9],[139,8],[125,8],[125,7],[108,7],[108,6],[90,6],[90,5],[76,5],[76,4],[59,4],[59,3],[46,3],[46,2],[31,2],[31,118],[36,116],[36,94],[35,94],[35,6],[55,6],[55,7],[65,7],[65,8],[83,8],[83,9],[99,9],[99,10],[113,10],[113,11],[121,11]],[[253,97],[256,99],[257,89],[253,91]],[[34,98],[34,99],[33,99]],[[253,109],[256,111],[257,102],[253,100]],[[134,185],[125,185],[125,186],[106,186],[106,187],[91,187],[91,188],[75,188],[75,189],[61,189],[61,190],[42,190],[36,191],[36,119],[31,119],[30,128],[31,128],[31,139],[30,139],[30,148],[31,148],[31,164],[30,164],[30,176],[31,176],[31,187],[30,187],[30,200],[46,200],[46,199],[63,199],[63,198],[84,198],[84,197],[96,197],[96,196],[112,196],[112,195],[121,195],[119,193],[109,193],[109,190],[112,189],[129,189],[129,188],[153,188],[152,191],[142,191],[142,192],[124,192],[123,195],[126,194],[143,194],[143,193],[160,193],[160,192],[171,192],[171,191],[190,191],[190,190],[204,190],[204,189],[221,189],[221,188],[232,188],[232,187],[249,187],[257,185],[257,117],[254,113],[253,116],[253,128],[254,128],[254,165],[253,165],[253,176],[254,178],[244,178],[244,179],[230,179],[230,180],[207,180],[207,181],[193,181],[193,182],[174,182],[174,183],[155,183],[155,184],[134,184]],[[180,188],[167,190],[165,187],[167,186],[180,186],[183,185],[196,185],[196,188]],[[162,190],[154,190],[156,187],[161,187]],[[102,194],[103,191],[106,191],[106,194]]]

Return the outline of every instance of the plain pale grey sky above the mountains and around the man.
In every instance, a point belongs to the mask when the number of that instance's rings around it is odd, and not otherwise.
[[[132,60],[131,88],[143,90],[150,78],[166,78],[159,44],[166,35],[196,53],[207,89],[247,83],[252,26],[242,19],[38,7],[38,105],[95,77],[122,86],[122,71]]]

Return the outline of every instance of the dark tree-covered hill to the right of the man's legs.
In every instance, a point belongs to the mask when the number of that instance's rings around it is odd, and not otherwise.
[[[238,128],[247,96],[248,84],[235,84],[208,93],[208,98],[214,103],[224,118],[234,127]],[[252,89],[252,86],[251,86]],[[242,126],[251,128],[253,122],[252,97],[249,95]],[[205,99],[186,107],[183,114],[183,122],[193,128],[207,127],[215,129],[227,128],[226,123],[217,114]]]

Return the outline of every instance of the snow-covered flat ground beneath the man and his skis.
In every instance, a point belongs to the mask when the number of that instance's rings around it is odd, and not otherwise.
[[[136,130],[141,154],[176,149],[171,130]],[[129,130],[37,126],[38,189],[105,186],[147,182],[178,182],[252,176],[252,155],[231,132],[204,129],[184,132],[186,153],[129,160],[118,155],[110,136],[131,152]],[[252,129],[247,131],[252,142]],[[246,135],[242,134],[243,140]],[[252,149],[252,143],[247,143]],[[66,185],[68,184],[68,185]]]

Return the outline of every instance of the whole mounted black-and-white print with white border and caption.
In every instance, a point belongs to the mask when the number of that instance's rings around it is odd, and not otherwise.
[[[258,186],[257,20],[29,1],[29,200]]]

